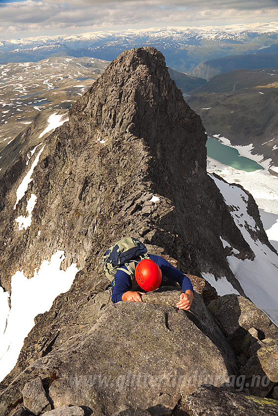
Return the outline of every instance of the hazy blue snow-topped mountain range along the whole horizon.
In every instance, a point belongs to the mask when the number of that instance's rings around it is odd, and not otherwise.
[[[0,63],[39,61],[48,56],[111,61],[126,49],[154,46],[173,69],[191,72],[200,62],[254,53],[278,42],[278,23],[226,27],[161,28],[89,32],[0,41]]]

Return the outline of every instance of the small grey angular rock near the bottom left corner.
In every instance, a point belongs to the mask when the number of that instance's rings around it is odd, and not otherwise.
[[[34,415],[39,415],[43,410],[51,409],[41,377],[36,377],[26,383],[22,395],[25,408]]]

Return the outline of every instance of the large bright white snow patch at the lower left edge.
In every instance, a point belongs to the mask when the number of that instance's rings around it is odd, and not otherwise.
[[[28,279],[18,271],[11,279],[11,308],[8,293],[0,287],[0,380],[15,366],[24,339],[34,326],[34,318],[51,308],[53,300],[67,292],[78,271],[76,264],[60,270],[64,252],[44,260],[34,277]]]

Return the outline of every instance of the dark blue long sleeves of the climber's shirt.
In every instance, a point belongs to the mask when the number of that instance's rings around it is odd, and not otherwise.
[[[165,258],[159,255],[149,254],[149,257],[154,261],[161,269],[162,274],[171,280],[176,281],[183,292],[190,289],[194,293],[191,281],[187,276],[181,273],[176,267],[172,266]],[[126,266],[121,266],[126,269]],[[127,269],[126,269],[127,271]],[[114,289],[112,293],[112,302],[116,303],[122,300],[122,296],[125,292],[132,288],[132,281],[130,275],[125,273],[123,270],[117,270],[114,278]]]

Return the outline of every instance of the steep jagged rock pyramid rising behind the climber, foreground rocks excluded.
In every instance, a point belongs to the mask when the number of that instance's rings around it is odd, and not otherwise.
[[[186,272],[226,276],[242,293],[219,236],[241,258],[253,253],[206,174],[205,140],[162,54],[153,48],[121,54],[70,110],[69,122],[38,147],[32,158],[42,150],[40,161],[15,209],[33,159],[26,167],[20,156],[4,175],[2,287],[10,289],[16,270],[31,277],[57,249],[65,250],[63,267],[76,261],[82,267],[86,259],[96,267],[100,252],[132,234],[164,247]],[[160,202],[147,204],[140,199],[146,193]],[[19,231],[15,218],[26,215],[31,194],[32,223]]]

